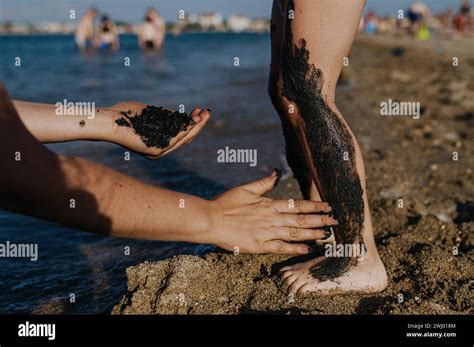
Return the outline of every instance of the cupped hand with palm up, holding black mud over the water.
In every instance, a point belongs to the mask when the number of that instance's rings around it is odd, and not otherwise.
[[[112,115],[112,138],[110,141],[118,143],[132,151],[138,152],[148,159],[158,159],[166,154],[173,152],[182,145],[190,143],[202,130],[206,122],[211,117],[208,109],[201,110],[195,108],[191,112],[191,117],[195,124],[189,125],[185,131],[181,131],[174,137],[166,148],[147,147],[140,136],[131,127],[119,126],[115,123],[117,119],[123,117],[121,112],[131,111],[132,115],[140,114],[147,105],[139,102],[121,102],[107,109]]]

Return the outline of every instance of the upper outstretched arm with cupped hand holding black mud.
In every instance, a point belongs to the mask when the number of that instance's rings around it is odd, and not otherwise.
[[[191,142],[204,128],[211,113],[208,109],[195,108],[191,112],[193,124],[178,133],[165,148],[147,146],[132,127],[118,126],[124,114],[140,114],[147,106],[138,102],[121,102],[104,108],[67,108],[63,103],[42,104],[14,100],[21,121],[28,131],[42,143],[74,140],[108,141],[120,144],[149,159],[158,159],[183,144]],[[86,111],[85,111],[86,110]],[[82,114],[74,113],[82,111]]]

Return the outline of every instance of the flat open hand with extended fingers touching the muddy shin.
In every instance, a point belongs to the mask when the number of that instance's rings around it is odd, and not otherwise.
[[[212,243],[241,253],[306,254],[308,246],[291,243],[323,239],[324,226],[338,224],[328,215],[331,207],[320,201],[273,200],[262,195],[273,189],[274,172],[265,177],[220,195],[211,201]]]

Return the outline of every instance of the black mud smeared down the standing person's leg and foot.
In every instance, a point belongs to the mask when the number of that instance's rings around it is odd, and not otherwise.
[[[294,10],[293,1],[288,10]],[[333,227],[336,242],[357,244],[363,242],[364,202],[361,182],[355,163],[352,136],[342,120],[326,105],[321,90],[323,74],[309,63],[306,41],[293,42],[291,19],[288,19],[282,51],[283,95],[293,102],[304,122],[304,132],[316,168],[319,193],[333,208],[339,225]],[[285,129],[285,128],[284,128]],[[285,130],[284,130],[285,131]],[[301,155],[293,157],[287,151],[289,164],[296,168],[299,179],[307,168],[302,166]],[[345,154],[348,160],[344,160]],[[306,184],[301,182],[300,185]],[[305,193],[305,192],[303,192]],[[313,277],[324,281],[341,276],[355,258],[327,258],[310,270]]]

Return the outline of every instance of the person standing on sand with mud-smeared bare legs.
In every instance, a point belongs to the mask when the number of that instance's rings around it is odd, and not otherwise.
[[[348,245],[344,250],[366,250],[282,268],[293,294],[373,293],[387,286],[373,236],[362,154],[335,103],[343,58],[364,5],[362,0],[273,3],[268,91],[282,121],[288,163],[305,199],[331,205],[339,224],[329,228],[327,240]]]

